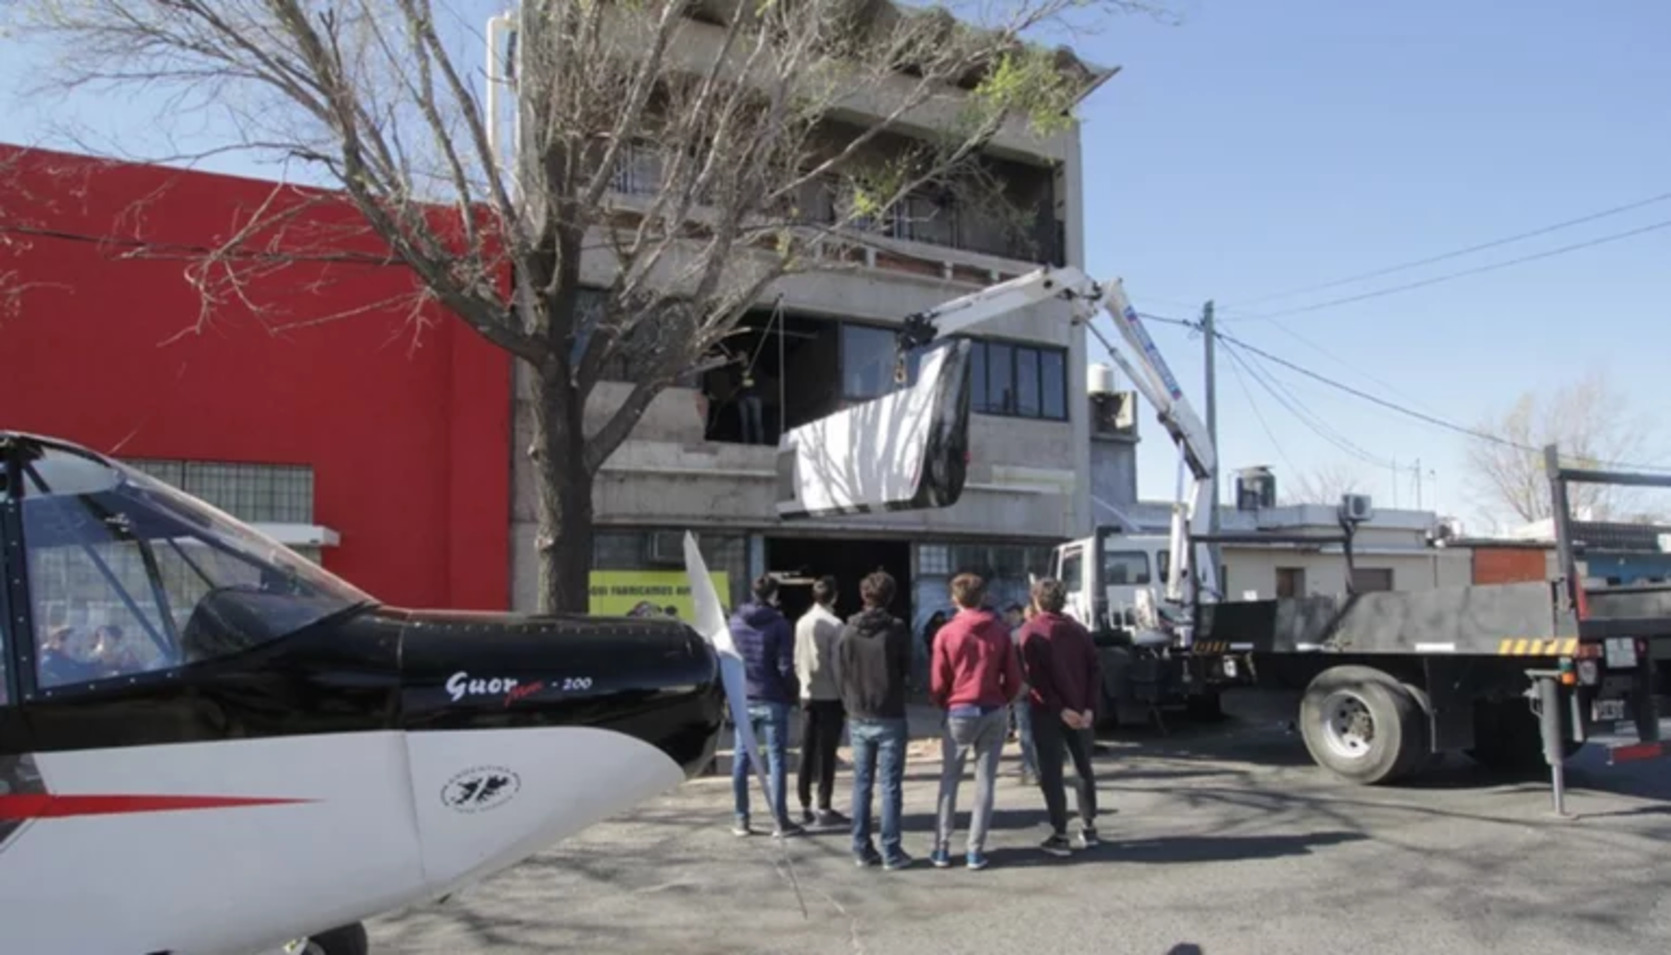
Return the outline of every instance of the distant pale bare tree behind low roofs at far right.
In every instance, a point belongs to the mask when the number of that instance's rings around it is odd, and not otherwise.
[[[1549,518],[1552,501],[1544,446],[1556,444],[1567,466],[1608,467],[1649,456],[1651,421],[1631,414],[1609,377],[1592,371],[1554,391],[1527,391],[1507,411],[1481,422],[1469,439],[1469,483],[1482,518],[1532,523]],[[1574,516],[1606,521],[1638,503],[1638,494],[1606,484],[1571,484]]]

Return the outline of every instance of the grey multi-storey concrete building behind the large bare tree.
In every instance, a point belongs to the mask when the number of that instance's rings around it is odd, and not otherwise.
[[[695,25],[700,37],[719,27]],[[1083,68],[1068,63],[1064,68]],[[1095,73],[1089,73],[1095,75]],[[881,109],[881,107],[877,107]],[[846,117],[862,127],[867,115]],[[765,392],[764,442],[744,442],[735,381],[727,371],[670,387],[628,441],[605,462],[595,488],[598,571],[678,571],[680,541],[698,533],[714,569],[725,571],[740,599],[760,573],[834,573],[846,584],[842,611],[857,608],[857,579],[889,569],[904,596],[896,613],[921,626],[949,604],[949,576],[976,569],[999,599],[1019,599],[1028,573],[1048,569],[1049,548],[1093,521],[1088,486],[1089,427],[1084,331],[1061,304],[983,327],[974,354],[969,479],[962,499],[941,511],[780,521],[775,516],[777,439],[785,427],[829,414],[892,387],[894,329],[924,307],[1009,279],[1039,264],[1084,262],[1081,157],[1076,127],[1038,139],[1016,122],[983,160],[1008,184],[1018,207],[1034,209],[1031,229],[1006,229],[979,207],[947,195],[921,195],[867,235],[857,270],[797,275],[780,299],[745,322],[729,349],[744,356]],[[657,179],[647,144],[617,180],[622,194]],[[832,195],[809,209],[832,214]],[[610,275],[600,259],[582,262],[588,284]],[[735,369],[729,369],[735,374]],[[623,382],[600,384],[588,406],[595,424],[625,399]],[[531,434],[530,386],[516,377],[516,437]],[[513,469],[513,604],[536,603],[535,476],[518,454]],[[799,594],[799,596],[797,596]],[[804,591],[790,589],[794,606]],[[907,603],[909,601],[909,603]]]

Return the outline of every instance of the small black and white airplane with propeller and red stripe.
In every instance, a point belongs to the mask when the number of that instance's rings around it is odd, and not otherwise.
[[[364,918],[677,786],[744,711],[688,534],[695,629],[398,609],[69,441],[0,431],[0,467],[8,952],[361,955]]]

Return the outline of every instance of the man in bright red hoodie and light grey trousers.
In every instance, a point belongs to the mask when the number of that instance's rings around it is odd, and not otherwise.
[[[969,868],[986,868],[986,830],[993,820],[993,788],[998,756],[1004,751],[1008,706],[1021,695],[1021,661],[1009,628],[983,606],[986,581],[976,574],[951,579],[957,616],[934,634],[929,664],[929,693],[946,710],[941,740],[939,825],[934,833],[936,868],[951,865],[952,820],[957,815],[957,785],[962,763],[974,750],[974,811],[969,813]]]

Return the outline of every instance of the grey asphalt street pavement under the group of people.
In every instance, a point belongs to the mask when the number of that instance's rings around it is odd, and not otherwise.
[[[1036,848],[1043,803],[1014,768],[1011,745],[984,872],[927,865],[939,763],[919,745],[911,870],[857,870],[844,831],[732,836],[729,778],[700,778],[444,905],[373,922],[373,950],[1671,952],[1671,763],[1606,766],[1586,750],[1567,771],[1577,818],[1561,820],[1546,780],[1462,758],[1419,783],[1360,788],[1268,721],[1140,731],[1105,741],[1105,845],[1069,860]],[[959,803],[971,795],[966,783]]]

